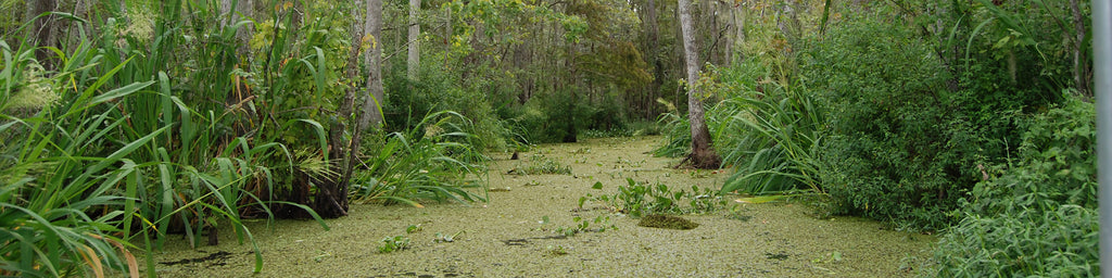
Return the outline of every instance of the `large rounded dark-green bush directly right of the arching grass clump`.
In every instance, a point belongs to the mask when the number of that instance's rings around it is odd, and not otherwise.
[[[969,123],[949,102],[946,70],[929,41],[901,22],[847,16],[808,50],[808,88],[828,111],[820,180],[838,214],[914,228],[949,225],[945,211],[973,183],[976,147],[951,132]]]

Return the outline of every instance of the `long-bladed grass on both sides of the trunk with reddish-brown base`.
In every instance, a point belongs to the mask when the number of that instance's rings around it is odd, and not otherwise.
[[[815,156],[826,120],[814,93],[759,81],[773,80],[773,72],[759,60],[709,70],[709,81],[702,86],[723,100],[707,108],[706,122],[724,165],[735,170],[722,192],[822,193],[817,179],[822,166]],[[686,117],[672,111],[662,115],[658,123],[666,138],[654,155],[678,157],[691,151]]]

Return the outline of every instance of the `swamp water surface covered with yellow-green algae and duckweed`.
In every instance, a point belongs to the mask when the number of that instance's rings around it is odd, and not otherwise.
[[[490,201],[425,203],[424,208],[351,207],[350,216],[315,221],[249,225],[265,266],[252,275],[250,244],[220,232],[220,245],[189,248],[175,236],[155,254],[161,277],[892,277],[911,276],[930,257],[934,237],[892,231],[850,217],[817,219],[793,202],[759,205],[729,198],[722,209],[683,216],[689,230],[637,226],[638,219],[580,197],[613,195],[626,178],[673,188],[718,187],[728,173],[672,169],[676,159],[646,152],[661,138],[606,138],[544,145],[492,155]],[[544,159],[570,175],[507,173]],[[602,182],[602,189],[593,189]],[[562,237],[556,230],[589,229]],[[604,217],[602,222],[594,219]],[[608,222],[605,217],[609,217]],[[548,221],[544,222],[543,219]],[[407,232],[410,226],[419,227]],[[451,241],[444,237],[453,236]],[[379,252],[385,237],[409,238],[408,249]],[[439,240],[437,240],[439,239]],[[137,255],[142,258],[142,255]]]

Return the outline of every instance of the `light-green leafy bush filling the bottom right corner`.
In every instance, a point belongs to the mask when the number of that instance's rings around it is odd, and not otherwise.
[[[1022,120],[1017,158],[983,172],[935,251],[937,275],[1100,274],[1094,119],[1074,99]]]

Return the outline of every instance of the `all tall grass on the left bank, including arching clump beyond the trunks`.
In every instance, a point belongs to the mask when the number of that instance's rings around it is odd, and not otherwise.
[[[38,48],[0,38],[0,275],[138,276],[129,250],[142,249],[156,276],[153,250],[169,234],[198,246],[230,227],[255,245],[245,218],[304,210],[320,221],[309,180],[336,178],[328,152],[338,142],[327,135],[350,132],[321,122],[351,120],[331,112],[334,100],[361,83],[339,73],[354,50],[336,27],[351,19],[315,2],[302,12],[321,16],[305,22],[279,6],[269,19],[225,24],[217,4],[105,1],[96,33],[73,28],[67,47],[44,48],[54,71],[39,66]],[[238,52],[235,34],[248,26],[260,29],[254,52]],[[353,198],[486,200],[471,121],[444,111],[414,127],[369,143]]]

